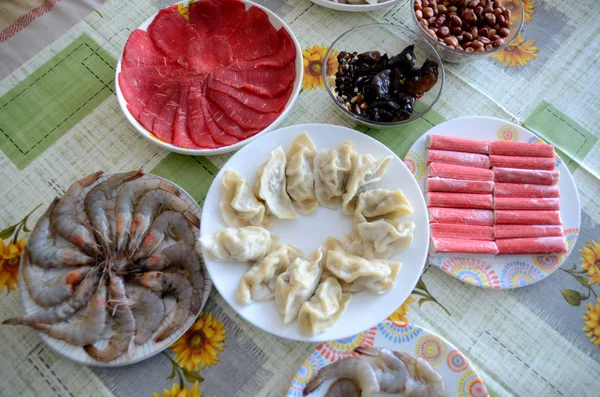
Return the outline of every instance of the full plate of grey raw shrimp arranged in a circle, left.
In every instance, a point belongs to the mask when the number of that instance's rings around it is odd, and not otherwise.
[[[211,281],[197,251],[200,207],[142,170],[95,172],[54,199],[31,232],[20,267],[24,316],[82,364],[151,357],[189,328]]]

